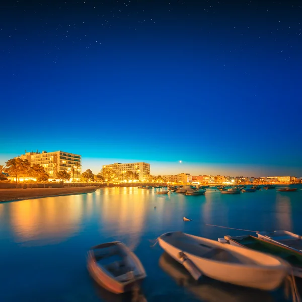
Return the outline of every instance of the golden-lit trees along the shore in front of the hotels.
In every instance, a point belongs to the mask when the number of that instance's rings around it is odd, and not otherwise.
[[[46,182],[49,179],[49,175],[46,173],[43,166],[39,164],[31,165],[28,160],[23,160],[21,158],[13,158],[8,160],[6,166],[0,165],[0,180],[7,180],[7,176],[14,176],[16,178],[16,183],[19,178],[22,177],[34,177],[37,179],[37,182]],[[58,171],[55,175],[56,179],[60,181],[70,181],[70,178],[78,180],[78,177],[81,177],[83,182],[107,182],[107,183],[118,183],[118,182],[129,182],[129,181],[138,181],[139,175],[133,171],[126,171],[125,173],[118,173],[117,171],[105,167],[101,169],[98,174],[93,174],[90,169],[84,171],[79,175],[79,163],[75,164],[69,171],[61,170]],[[164,179],[159,176],[147,175],[146,181],[152,182],[163,182]]]

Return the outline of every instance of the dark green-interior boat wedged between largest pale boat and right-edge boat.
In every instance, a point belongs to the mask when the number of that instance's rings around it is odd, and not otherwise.
[[[230,243],[230,245],[248,248],[253,251],[268,253],[284,259],[292,266],[293,274],[296,277],[302,278],[301,252],[286,247],[285,245],[282,246],[275,242],[270,242],[261,238],[254,237],[252,235],[234,237],[224,236],[224,238]]]

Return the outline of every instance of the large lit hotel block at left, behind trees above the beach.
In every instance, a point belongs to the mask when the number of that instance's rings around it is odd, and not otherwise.
[[[43,166],[45,172],[50,178],[55,178],[57,172],[67,170],[69,172],[72,167],[78,166],[78,178],[81,176],[81,155],[64,151],[54,152],[25,152],[19,156],[23,160],[28,160],[31,164],[39,164]],[[77,174],[77,172],[74,173]]]

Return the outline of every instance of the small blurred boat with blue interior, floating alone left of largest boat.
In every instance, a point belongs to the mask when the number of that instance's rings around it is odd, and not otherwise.
[[[99,285],[117,294],[132,290],[146,277],[139,259],[119,241],[92,247],[88,252],[87,268]]]

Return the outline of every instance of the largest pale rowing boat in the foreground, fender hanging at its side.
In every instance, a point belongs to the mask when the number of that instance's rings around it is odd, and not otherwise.
[[[184,254],[202,274],[222,282],[274,290],[289,272],[282,259],[182,232],[165,233],[158,241],[176,261],[182,263]]]

